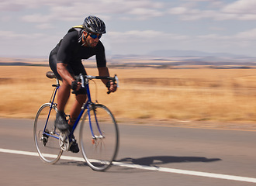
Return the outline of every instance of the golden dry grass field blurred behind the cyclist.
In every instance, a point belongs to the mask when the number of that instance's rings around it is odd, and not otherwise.
[[[33,118],[53,88],[45,76],[49,67],[0,67],[0,116]],[[256,122],[254,69],[109,69],[118,74],[119,90],[107,95],[100,81],[92,83],[92,98],[107,105],[117,118]],[[97,70],[88,68],[88,74]],[[69,112],[72,99],[67,105]]]

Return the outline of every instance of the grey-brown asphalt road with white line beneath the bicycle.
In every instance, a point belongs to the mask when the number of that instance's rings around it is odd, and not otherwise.
[[[65,152],[71,160],[43,164],[35,153],[33,120],[0,119],[0,185],[256,184],[255,131],[120,123],[119,132],[115,165],[96,172],[81,153]]]

